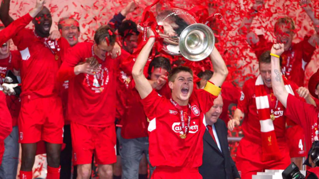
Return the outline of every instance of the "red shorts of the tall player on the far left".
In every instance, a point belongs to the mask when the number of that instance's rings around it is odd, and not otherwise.
[[[62,144],[64,119],[61,98],[22,98],[18,125],[20,143],[44,140]]]

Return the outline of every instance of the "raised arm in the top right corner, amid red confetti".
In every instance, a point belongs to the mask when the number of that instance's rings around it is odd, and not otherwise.
[[[313,47],[316,47],[316,44],[319,43],[319,19],[315,17],[315,12],[312,8],[313,4],[311,4],[310,0],[300,0],[299,4],[314,23],[316,33],[309,38],[308,42]]]

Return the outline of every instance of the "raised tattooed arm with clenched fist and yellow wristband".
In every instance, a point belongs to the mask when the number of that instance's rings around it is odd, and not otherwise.
[[[280,56],[284,51],[284,44],[274,44],[271,47],[271,84],[274,95],[286,108],[289,93],[286,91],[282,78],[279,58],[276,57],[276,55]]]

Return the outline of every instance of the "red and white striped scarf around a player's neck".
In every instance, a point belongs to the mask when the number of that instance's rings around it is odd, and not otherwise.
[[[288,93],[294,95],[293,90],[283,76],[285,88]],[[262,161],[280,160],[281,153],[279,151],[275,128],[271,120],[271,101],[269,90],[263,83],[261,75],[258,75],[255,82],[256,107],[260,122],[260,132],[262,140]]]

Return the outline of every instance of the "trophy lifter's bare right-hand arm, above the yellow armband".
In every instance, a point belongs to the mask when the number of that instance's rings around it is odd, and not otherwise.
[[[216,47],[214,47],[210,57],[214,68],[214,74],[209,81],[214,83],[216,86],[221,86],[228,75],[228,69],[225,61],[219,54]]]

